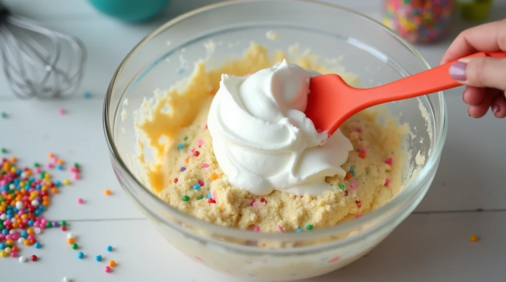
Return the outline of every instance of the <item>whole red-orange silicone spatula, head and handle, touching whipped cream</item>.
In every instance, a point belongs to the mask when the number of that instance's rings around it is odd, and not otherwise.
[[[479,52],[464,58],[478,56],[506,58],[506,52]],[[306,117],[318,131],[332,135],[347,119],[368,107],[460,86],[448,73],[453,62],[365,89],[351,87],[339,75],[315,76],[309,84]]]

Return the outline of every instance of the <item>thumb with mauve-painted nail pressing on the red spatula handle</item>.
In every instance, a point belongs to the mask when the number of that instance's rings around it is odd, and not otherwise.
[[[506,59],[475,57],[450,66],[450,76],[467,86],[506,90]]]

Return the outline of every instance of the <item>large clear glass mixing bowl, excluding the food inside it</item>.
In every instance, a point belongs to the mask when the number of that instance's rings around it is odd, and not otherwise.
[[[269,30],[279,38],[268,39]],[[214,61],[242,53],[251,40],[273,50],[299,43],[301,49],[311,48],[312,53],[324,58],[342,57],[341,64],[357,74],[364,87],[429,69],[411,44],[382,24],[354,11],[311,0],[220,3],[179,16],[149,34],[126,56],[112,78],[104,105],[105,135],[124,191],[181,252],[198,263],[240,277],[269,281],[313,277],[369,252],[425,196],[446,137],[442,93],[386,105],[400,123],[409,123],[412,131],[406,137],[411,153],[406,154],[405,188],[360,218],[304,233],[253,233],[204,222],[158,199],[142,185],[129,163],[136,150],[132,112],[145,97],[152,97],[156,88],[168,89],[188,77],[193,62],[208,55],[204,43],[209,40],[217,44]],[[416,163],[419,169],[413,173],[408,167]],[[278,247],[258,247],[262,243]]]

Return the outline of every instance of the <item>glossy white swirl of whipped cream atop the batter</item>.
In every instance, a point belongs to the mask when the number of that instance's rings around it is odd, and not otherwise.
[[[328,137],[306,118],[309,81],[319,75],[283,61],[247,77],[222,75],[207,128],[230,184],[257,196],[273,190],[320,195],[353,145],[341,131]]]

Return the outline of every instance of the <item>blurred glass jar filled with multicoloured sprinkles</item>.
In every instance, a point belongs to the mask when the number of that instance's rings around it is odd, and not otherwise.
[[[430,43],[450,28],[454,0],[385,0],[383,23],[412,43]]]

